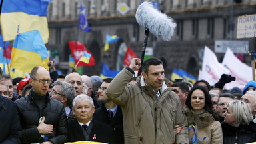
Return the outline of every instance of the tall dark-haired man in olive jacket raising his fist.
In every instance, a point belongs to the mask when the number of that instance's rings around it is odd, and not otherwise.
[[[179,97],[164,82],[162,62],[147,59],[141,67],[142,77],[128,84],[140,67],[140,59],[133,58],[106,90],[109,99],[122,107],[125,143],[189,143],[187,119]],[[175,125],[183,127],[177,135]]]

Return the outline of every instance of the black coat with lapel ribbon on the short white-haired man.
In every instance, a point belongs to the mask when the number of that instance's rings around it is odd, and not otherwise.
[[[115,143],[114,131],[111,127],[109,127],[109,125],[101,123],[95,119],[93,119],[91,123],[93,123],[93,128],[91,129],[91,133],[89,135],[89,141],[110,144]],[[83,128],[81,125],[79,125],[77,119],[69,120],[68,129],[69,142],[85,141]],[[96,139],[93,139],[94,135],[96,135]]]

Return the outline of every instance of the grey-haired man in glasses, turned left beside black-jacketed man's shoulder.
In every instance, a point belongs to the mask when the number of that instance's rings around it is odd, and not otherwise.
[[[68,118],[72,111],[71,104],[75,98],[75,88],[70,83],[64,81],[55,81],[53,85],[53,89],[49,93],[50,97],[57,99],[64,105]]]

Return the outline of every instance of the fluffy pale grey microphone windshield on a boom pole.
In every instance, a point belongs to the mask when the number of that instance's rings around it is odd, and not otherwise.
[[[160,37],[163,41],[171,40],[176,23],[171,17],[155,9],[150,2],[141,3],[135,17],[139,25],[149,29],[156,37]]]

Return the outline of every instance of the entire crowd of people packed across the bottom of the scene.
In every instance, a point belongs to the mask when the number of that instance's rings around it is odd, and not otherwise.
[[[217,143],[256,141],[256,81],[223,89],[169,81],[163,63],[133,58],[115,78],[58,75],[54,61],[29,78],[2,75],[0,143]],[[135,71],[141,75],[135,77]]]

